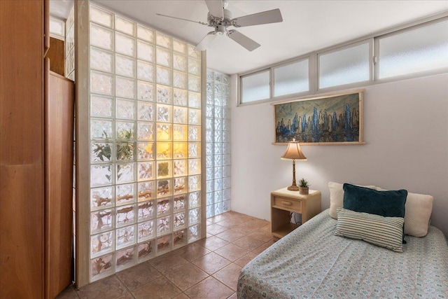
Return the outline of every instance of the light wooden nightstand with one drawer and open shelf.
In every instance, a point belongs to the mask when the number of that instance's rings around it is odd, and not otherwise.
[[[309,195],[287,188],[271,192],[271,229],[274,241],[288,235],[299,225],[290,222],[290,212],[302,214],[302,223],[321,212],[321,192],[309,190]]]

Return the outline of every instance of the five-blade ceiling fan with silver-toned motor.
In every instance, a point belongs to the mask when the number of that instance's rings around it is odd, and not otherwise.
[[[225,9],[228,6],[228,0],[204,0],[209,8],[209,13],[207,13],[207,23],[198,22],[193,20],[187,20],[183,18],[172,17],[170,15],[162,15],[156,13],[156,15],[161,15],[162,17],[174,18],[179,20],[184,20],[188,22],[195,22],[201,25],[207,25],[209,27],[214,27],[214,31],[209,32],[204,38],[197,44],[195,50],[202,51],[205,50],[211,42],[216,38],[216,36],[227,35],[230,39],[236,41],[241,46],[249,51],[253,51],[260,47],[260,44],[252,39],[249,39],[241,32],[235,29],[228,30],[228,27],[246,27],[253,25],[262,25],[269,23],[282,22],[281,13],[279,8],[273,9],[272,11],[263,11],[261,13],[254,13],[253,15],[244,15],[239,18],[232,18],[230,11]]]

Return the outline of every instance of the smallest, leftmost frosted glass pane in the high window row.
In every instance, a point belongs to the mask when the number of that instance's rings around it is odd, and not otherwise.
[[[269,76],[270,72],[267,70],[241,77],[241,103],[269,99]]]

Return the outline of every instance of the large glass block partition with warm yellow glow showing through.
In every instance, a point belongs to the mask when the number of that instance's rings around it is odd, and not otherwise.
[[[201,238],[201,53],[90,6],[90,281]]]

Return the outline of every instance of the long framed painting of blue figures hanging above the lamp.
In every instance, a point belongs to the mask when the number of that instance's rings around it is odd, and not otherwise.
[[[365,144],[363,91],[281,102],[274,105],[273,144]]]

